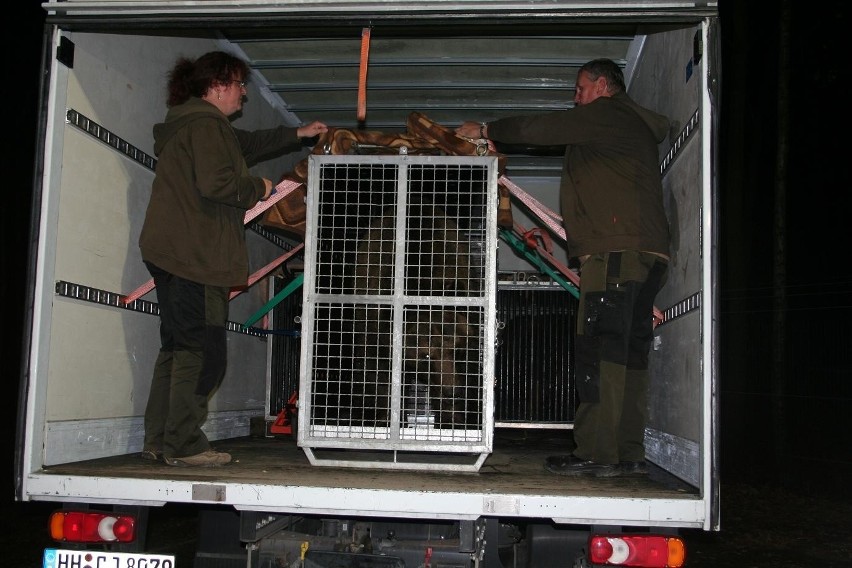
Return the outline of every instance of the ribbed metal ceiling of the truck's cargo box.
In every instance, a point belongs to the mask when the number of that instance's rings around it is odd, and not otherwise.
[[[715,13],[714,3],[661,1],[308,0],[282,8],[263,0],[69,0],[44,6],[48,22],[66,29],[228,40],[248,60],[251,80],[279,99],[294,122],[384,132],[405,131],[413,111],[452,128],[464,120],[569,108],[577,69],[586,61],[613,59],[629,85],[644,35]],[[361,73],[364,120],[358,117]],[[512,163],[525,169],[558,168],[562,153],[498,149],[518,156]]]

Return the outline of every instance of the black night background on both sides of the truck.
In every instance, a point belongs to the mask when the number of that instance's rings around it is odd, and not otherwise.
[[[3,78],[10,124],[0,241],[7,474],[13,473],[44,31],[40,5],[24,4],[7,30]],[[848,502],[852,184],[842,142],[849,107],[841,77],[848,80],[849,58],[841,41],[850,33],[849,4],[720,5],[723,499],[726,485],[745,483]],[[3,477],[4,507],[14,495],[12,479]],[[723,507],[723,530],[725,513]]]

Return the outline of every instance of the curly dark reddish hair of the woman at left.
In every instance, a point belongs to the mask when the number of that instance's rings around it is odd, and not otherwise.
[[[173,107],[190,97],[202,97],[216,84],[244,81],[248,72],[245,61],[224,51],[205,53],[195,61],[181,57],[169,72],[166,105]]]

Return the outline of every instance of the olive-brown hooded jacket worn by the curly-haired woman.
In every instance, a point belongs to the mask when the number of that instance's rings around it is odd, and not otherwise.
[[[263,197],[248,164],[300,147],[297,129],[247,132],[212,104],[191,98],[154,125],[157,169],[139,236],[142,259],[212,286],[245,285],[246,211]]]

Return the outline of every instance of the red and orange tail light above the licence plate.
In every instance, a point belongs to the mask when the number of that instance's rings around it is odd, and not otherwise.
[[[50,537],[61,542],[133,542],[136,519],[97,511],[57,511],[50,516]]]

